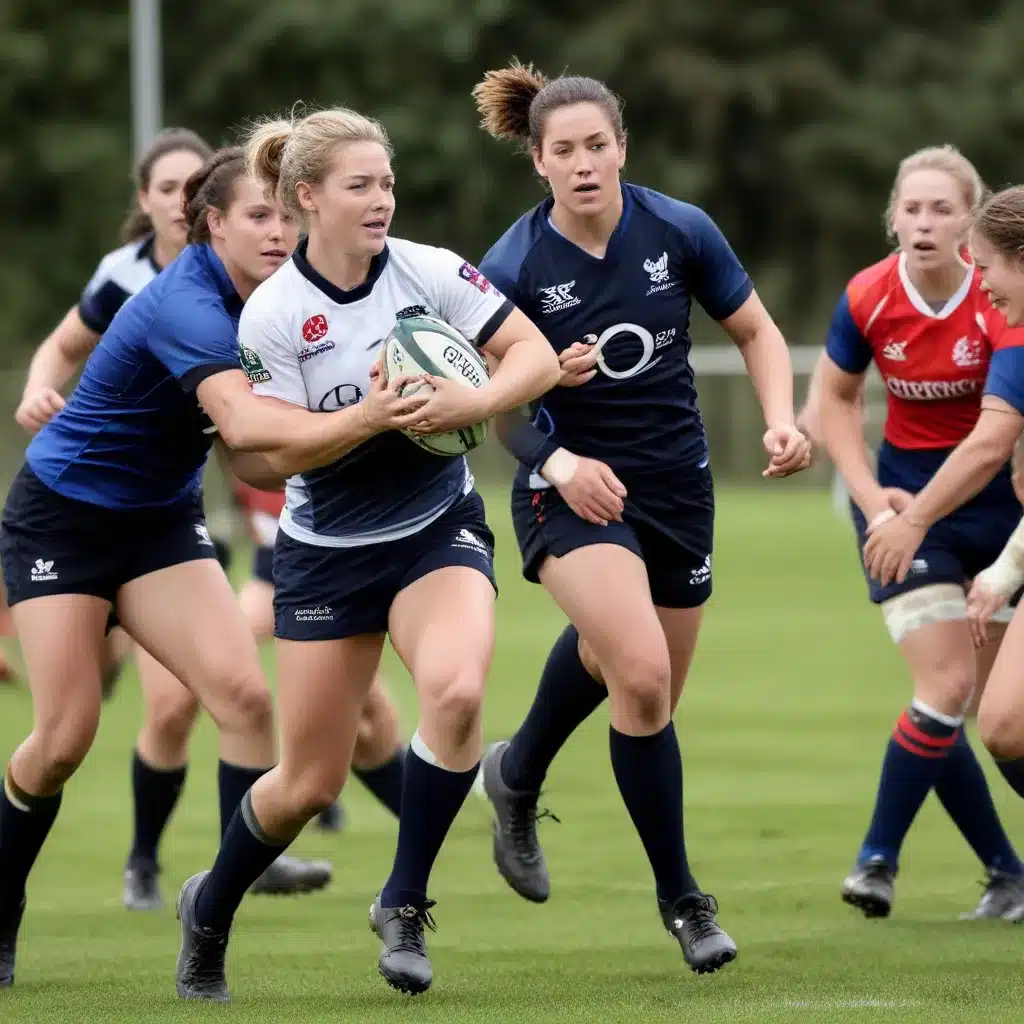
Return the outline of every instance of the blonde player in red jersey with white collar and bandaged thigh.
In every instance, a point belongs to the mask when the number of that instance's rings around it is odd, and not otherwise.
[[[981,193],[977,172],[950,147],[904,160],[889,213],[900,249],[853,278],[833,317],[819,375],[821,429],[849,488],[861,547],[870,529],[910,503],[978,419],[992,347],[1005,329],[961,254]],[[872,361],[888,391],[877,473],[858,408]],[[963,728],[990,664],[975,651],[966,589],[1020,518],[1002,466],[973,501],[935,522],[904,580],[868,580],[910,670],[913,699],[889,740],[874,813],[843,883],[844,900],[867,916],[890,912],[903,840],[932,788],[987,872],[981,902],[965,916],[1024,916],[1024,865]]]

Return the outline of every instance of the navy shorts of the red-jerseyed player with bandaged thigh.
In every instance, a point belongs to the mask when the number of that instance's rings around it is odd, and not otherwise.
[[[916,494],[947,455],[945,451],[914,452],[883,444],[879,452],[879,482],[884,487],[901,487]],[[867,522],[853,502],[850,503],[850,512],[863,569]],[[979,495],[945,519],[940,519],[925,535],[903,583],[883,587],[864,569],[871,602],[882,604],[900,594],[934,584],[955,584],[967,589],[982,569],[988,568],[999,557],[1020,518],[1021,505],[1014,494],[1010,469],[1004,467]],[[1020,593],[1010,603],[1016,605],[1019,600]]]

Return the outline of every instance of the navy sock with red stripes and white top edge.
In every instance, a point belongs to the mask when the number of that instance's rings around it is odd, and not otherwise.
[[[874,813],[858,863],[881,858],[897,869],[903,840],[938,780],[962,722],[919,700],[900,716],[882,762]]]

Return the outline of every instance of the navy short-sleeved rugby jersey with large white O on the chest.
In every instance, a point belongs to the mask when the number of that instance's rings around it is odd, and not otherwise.
[[[623,215],[603,259],[551,223],[552,199],[520,217],[480,263],[561,352],[597,336],[598,373],[534,403],[534,421],[578,455],[616,472],[707,462],[690,366],[690,306],[732,315],[754,290],[702,210],[623,184]]]

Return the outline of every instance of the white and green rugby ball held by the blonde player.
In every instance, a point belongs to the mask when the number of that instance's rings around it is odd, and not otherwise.
[[[426,315],[407,316],[395,324],[384,342],[381,370],[386,380],[431,374],[466,387],[483,387],[487,382],[487,364],[476,347],[443,321]],[[426,382],[409,384],[402,395],[429,387]],[[487,423],[443,434],[417,434],[411,430],[402,433],[433,455],[465,455],[483,443]]]

